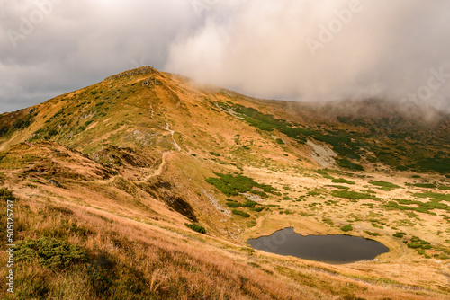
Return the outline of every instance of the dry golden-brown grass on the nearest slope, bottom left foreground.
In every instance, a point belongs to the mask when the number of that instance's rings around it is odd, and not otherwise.
[[[89,263],[94,264],[92,261],[101,255],[106,257],[115,266],[112,271],[118,273],[112,286],[104,288],[109,296],[95,296],[98,287],[96,290],[86,282],[85,266],[58,272],[31,260],[16,264],[16,294],[4,293],[6,299],[23,299],[26,293],[42,299],[134,299],[145,295],[162,299],[295,299],[301,294],[309,298],[320,295],[312,288],[302,288],[301,292],[292,283],[284,284],[281,278],[251,268],[245,261],[234,260],[227,252],[188,236],[119,216],[109,215],[108,219],[104,217],[108,214],[101,217],[88,210],[94,209],[18,199],[17,240],[51,236],[86,249],[91,257]],[[5,263],[4,255],[1,263]],[[2,269],[2,285],[5,271]],[[142,290],[127,296],[127,285],[134,280]]]

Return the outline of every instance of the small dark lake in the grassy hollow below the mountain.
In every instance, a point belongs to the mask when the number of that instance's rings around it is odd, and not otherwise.
[[[293,227],[247,241],[254,249],[333,264],[374,260],[389,252],[383,243],[360,236],[296,234]]]

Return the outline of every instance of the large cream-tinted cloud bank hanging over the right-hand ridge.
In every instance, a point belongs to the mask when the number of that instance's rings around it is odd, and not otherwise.
[[[264,98],[449,110],[448,1],[241,1],[232,14],[217,5],[172,45],[166,69]]]

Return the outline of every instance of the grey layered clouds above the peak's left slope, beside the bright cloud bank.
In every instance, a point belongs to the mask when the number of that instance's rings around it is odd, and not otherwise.
[[[2,3],[0,112],[141,65],[163,68],[180,29],[198,20],[184,0]]]

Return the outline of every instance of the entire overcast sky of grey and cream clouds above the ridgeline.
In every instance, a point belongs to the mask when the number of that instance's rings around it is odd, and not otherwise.
[[[447,0],[0,4],[0,112],[143,65],[264,98],[450,111]]]

